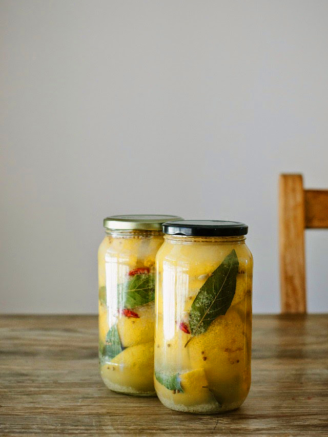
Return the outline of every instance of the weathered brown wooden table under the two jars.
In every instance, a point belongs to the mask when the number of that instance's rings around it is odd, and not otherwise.
[[[328,315],[255,316],[252,387],[230,413],[186,414],[100,380],[95,316],[0,318],[0,435],[328,436]]]

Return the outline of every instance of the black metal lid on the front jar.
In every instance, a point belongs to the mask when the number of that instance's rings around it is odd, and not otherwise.
[[[248,225],[224,220],[177,220],[164,223],[163,233],[189,237],[232,237],[246,235]]]

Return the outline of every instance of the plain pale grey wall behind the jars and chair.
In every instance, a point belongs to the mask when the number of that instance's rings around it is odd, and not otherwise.
[[[1,313],[95,313],[111,214],[249,224],[279,311],[277,178],[328,187],[328,2],[1,0]],[[308,231],[310,311],[328,233]]]

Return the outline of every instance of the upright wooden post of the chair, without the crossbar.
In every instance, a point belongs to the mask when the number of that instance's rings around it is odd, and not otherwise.
[[[304,228],[305,206],[302,175],[280,175],[281,313],[306,313]]]

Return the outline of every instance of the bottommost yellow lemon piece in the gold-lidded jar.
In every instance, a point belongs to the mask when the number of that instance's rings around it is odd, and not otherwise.
[[[153,361],[153,342],[130,346],[101,365],[101,377],[111,390],[153,396]]]

